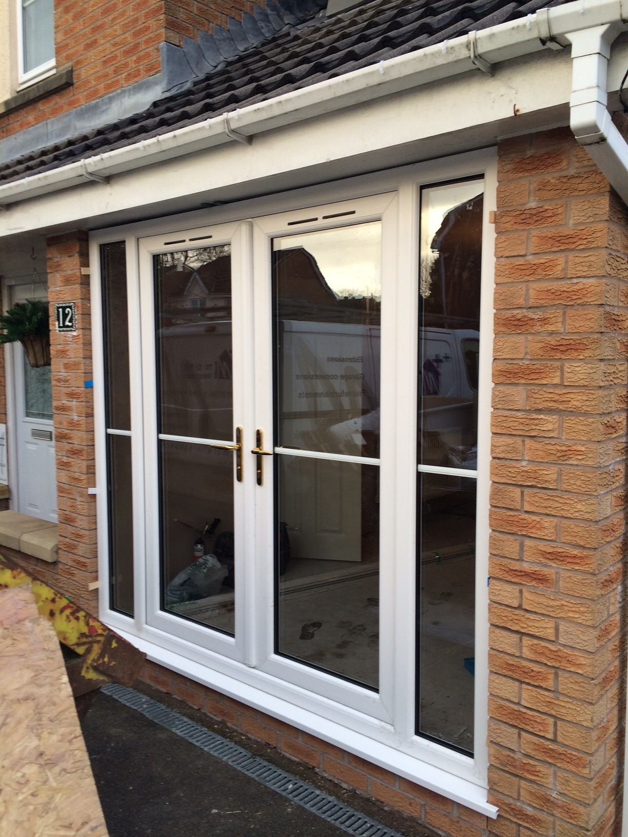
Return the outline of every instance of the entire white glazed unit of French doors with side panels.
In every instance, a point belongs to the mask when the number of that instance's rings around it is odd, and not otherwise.
[[[120,589],[105,618],[154,659],[482,810],[494,188],[477,157],[455,181],[425,164],[360,198],[275,214],[260,199],[252,218],[218,208],[93,246],[126,236],[136,254],[143,452],[135,624]],[[113,394],[121,339],[103,314]],[[122,438],[108,414],[102,438]],[[100,496],[115,541],[121,504]]]

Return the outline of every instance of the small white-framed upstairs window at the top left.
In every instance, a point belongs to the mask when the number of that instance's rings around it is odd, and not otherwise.
[[[54,0],[18,0],[18,80],[36,80],[54,68]]]

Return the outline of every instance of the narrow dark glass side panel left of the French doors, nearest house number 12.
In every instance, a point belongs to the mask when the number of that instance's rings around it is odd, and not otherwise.
[[[123,241],[100,247],[111,608],[133,615],[131,398]]]

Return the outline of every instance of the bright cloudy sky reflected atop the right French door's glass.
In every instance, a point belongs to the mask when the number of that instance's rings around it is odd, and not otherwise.
[[[327,285],[338,297],[353,295],[379,299],[382,292],[381,222],[289,235],[273,242],[275,250],[297,247],[314,256]]]

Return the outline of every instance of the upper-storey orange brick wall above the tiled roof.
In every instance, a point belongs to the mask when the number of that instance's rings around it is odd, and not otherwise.
[[[57,67],[72,65],[67,90],[0,116],[0,139],[67,113],[157,74],[159,44],[183,45],[199,32],[226,28],[266,0],[55,0],[54,50]]]

